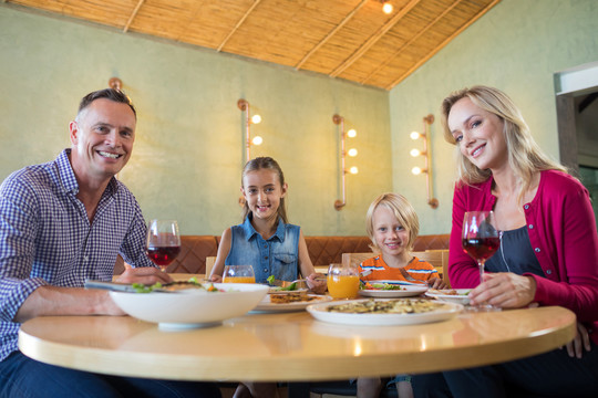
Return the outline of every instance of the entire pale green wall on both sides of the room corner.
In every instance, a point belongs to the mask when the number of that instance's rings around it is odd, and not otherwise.
[[[161,41],[0,4],[0,179],[50,160],[69,146],[68,123],[81,96],[118,76],[138,114],[137,142],[120,178],[146,218],[174,217],[183,233],[219,234],[239,221],[243,119],[247,98],[264,118],[252,155],[281,164],[289,214],[309,235],[364,234],[364,214],[380,192],[404,193],[422,234],[447,233],[454,160],[442,138],[439,107],[451,91],[488,84],[522,107],[539,145],[558,158],[555,88],[558,71],[598,60],[598,1],[502,0],[390,93],[311,73]],[[358,129],[360,174],[340,197],[334,113]],[[433,189],[413,176],[421,142],[409,133],[431,126]]]

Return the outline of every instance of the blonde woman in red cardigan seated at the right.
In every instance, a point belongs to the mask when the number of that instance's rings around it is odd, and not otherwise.
[[[576,313],[578,335],[539,356],[415,377],[416,397],[596,396],[598,391],[598,235],[588,191],[550,160],[503,92],[475,86],[442,104],[446,140],[456,145],[448,275],[475,287],[473,305],[560,305]],[[494,210],[498,252],[478,268],[461,248],[463,216]]]

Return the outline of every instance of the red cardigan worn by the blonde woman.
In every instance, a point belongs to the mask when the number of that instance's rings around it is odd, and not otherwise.
[[[473,187],[458,184],[453,197],[448,276],[453,287],[480,284],[476,262],[461,247],[467,210],[492,210],[493,178]],[[534,301],[571,310],[598,344],[598,233],[587,189],[571,176],[542,171],[536,197],[523,207],[532,248],[546,277],[536,280]]]

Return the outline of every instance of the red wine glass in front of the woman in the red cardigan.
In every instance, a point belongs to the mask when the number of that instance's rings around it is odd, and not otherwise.
[[[484,282],[484,263],[501,245],[494,211],[467,211],[463,218],[463,251],[477,261],[480,283]],[[482,307],[494,308],[491,304]]]

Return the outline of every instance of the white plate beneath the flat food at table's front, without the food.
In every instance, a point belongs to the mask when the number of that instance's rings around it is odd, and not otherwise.
[[[365,300],[350,300],[346,303],[362,301]],[[396,326],[440,322],[451,320],[463,311],[463,305],[454,303],[442,303],[441,308],[421,314],[350,314],[327,311],[329,305],[336,304],[339,303],[311,304],[308,305],[307,311],[318,321],[361,326]]]

